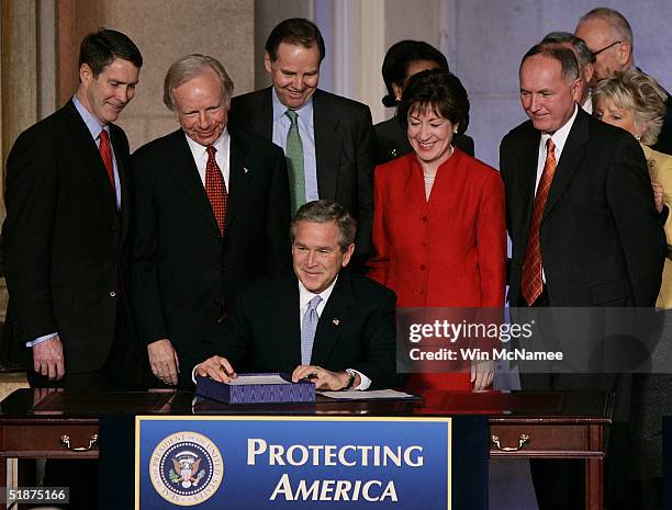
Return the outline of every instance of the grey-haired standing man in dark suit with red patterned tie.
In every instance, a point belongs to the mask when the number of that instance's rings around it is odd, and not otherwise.
[[[166,384],[177,384],[180,358],[216,332],[244,283],[289,272],[284,157],[227,128],[232,92],[216,59],[179,59],[164,102],[181,128],[133,155],[133,305],[152,372]]]

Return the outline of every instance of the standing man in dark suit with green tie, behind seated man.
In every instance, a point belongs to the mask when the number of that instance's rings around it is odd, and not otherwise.
[[[376,135],[369,107],[317,89],[324,39],[309,20],[284,20],[266,41],[272,87],[234,98],[231,125],[256,133],[287,155],[292,213],[306,202],[340,203],[357,220],[354,264],[373,254]]]

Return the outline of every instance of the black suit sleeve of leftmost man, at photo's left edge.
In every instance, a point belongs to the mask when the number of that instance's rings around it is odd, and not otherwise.
[[[57,331],[51,283],[57,160],[53,139],[35,131],[19,137],[7,160],[2,250],[15,339],[22,343]]]

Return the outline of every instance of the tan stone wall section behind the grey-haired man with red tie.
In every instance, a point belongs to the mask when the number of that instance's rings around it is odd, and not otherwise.
[[[136,98],[119,122],[132,150],[178,127],[161,98],[166,71],[181,56],[211,55],[226,68],[234,93],[254,90],[251,1],[107,0],[104,20],[126,33],[145,60]]]

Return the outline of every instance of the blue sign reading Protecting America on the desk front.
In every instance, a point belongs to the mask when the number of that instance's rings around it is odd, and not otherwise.
[[[136,510],[451,508],[450,418],[137,417]]]

